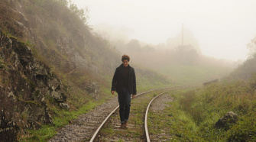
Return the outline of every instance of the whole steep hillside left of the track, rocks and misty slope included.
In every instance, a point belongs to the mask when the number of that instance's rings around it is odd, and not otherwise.
[[[47,140],[113,97],[112,76],[122,54],[86,24],[86,10],[66,0],[0,4],[0,109],[11,104],[1,115],[3,140]],[[170,86],[164,76],[131,66],[138,92]]]

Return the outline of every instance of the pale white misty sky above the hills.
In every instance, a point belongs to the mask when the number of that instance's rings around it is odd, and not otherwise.
[[[115,27],[128,39],[166,43],[182,24],[193,32],[202,53],[228,60],[245,60],[256,36],[255,0],[74,0],[89,8],[89,25]],[[120,30],[122,29],[122,30]],[[184,39],[184,44],[186,39]]]

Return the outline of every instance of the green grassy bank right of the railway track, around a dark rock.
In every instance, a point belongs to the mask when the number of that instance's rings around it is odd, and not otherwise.
[[[171,141],[255,141],[254,80],[222,81],[202,89],[172,92],[175,102],[163,113],[150,113],[150,133],[160,134],[152,127],[164,127]],[[228,111],[238,115],[237,123],[216,128],[215,122]]]

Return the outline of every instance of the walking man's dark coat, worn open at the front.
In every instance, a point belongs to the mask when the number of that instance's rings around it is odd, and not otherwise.
[[[116,91],[118,93],[121,93],[124,87],[124,75],[122,73],[122,66],[118,66],[115,69],[115,74],[112,79],[112,91]],[[129,68],[129,74],[128,74],[128,91],[130,94],[136,95],[137,89],[136,89],[136,76],[134,72],[134,68],[132,68],[130,65],[128,65]]]

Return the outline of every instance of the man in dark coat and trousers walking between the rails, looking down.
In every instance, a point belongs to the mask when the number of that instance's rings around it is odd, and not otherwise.
[[[128,127],[128,119],[131,106],[131,95],[134,98],[137,94],[136,77],[134,68],[129,65],[130,57],[122,56],[122,64],[115,69],[112,79],[112,95],[118,93],[119,115],[121,127]]]

